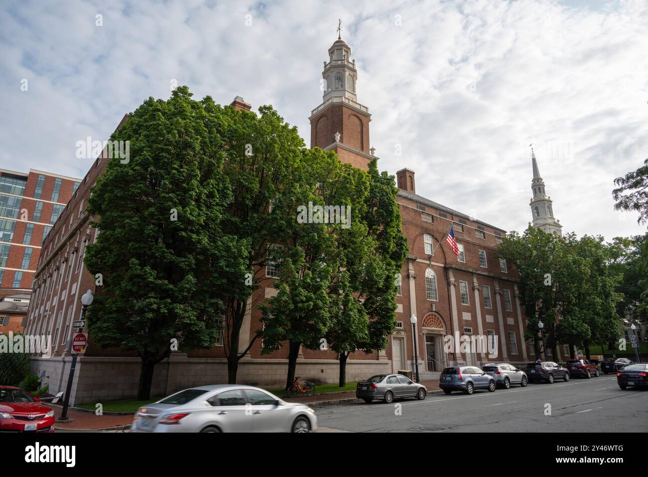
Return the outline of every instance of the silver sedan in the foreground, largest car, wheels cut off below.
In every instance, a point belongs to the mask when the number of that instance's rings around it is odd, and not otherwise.
[[[137,410],[133,432],[312,432],[315,411],[259,387],[192,387]]]

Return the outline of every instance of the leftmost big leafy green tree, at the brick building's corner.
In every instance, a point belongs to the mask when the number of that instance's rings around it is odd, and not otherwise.
[[[137,398],[150,398],[157,363],[178,350],[209,348],[221,328],[224,290],[246,273],[249,244],[222,230],[232,193],[223,174],[227,115],[186,86],[147,99],[111,140],[130,141],[88,199],[100,230],[85,263],[101,274],[89,331],[100,347],[141,358]]]

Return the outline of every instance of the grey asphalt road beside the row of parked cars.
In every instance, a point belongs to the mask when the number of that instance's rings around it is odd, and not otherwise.
[[[316,413],[329,432],[648,432],[648,391],[622,391],[616,376],[601,374],[472,396],[334,404]]]

